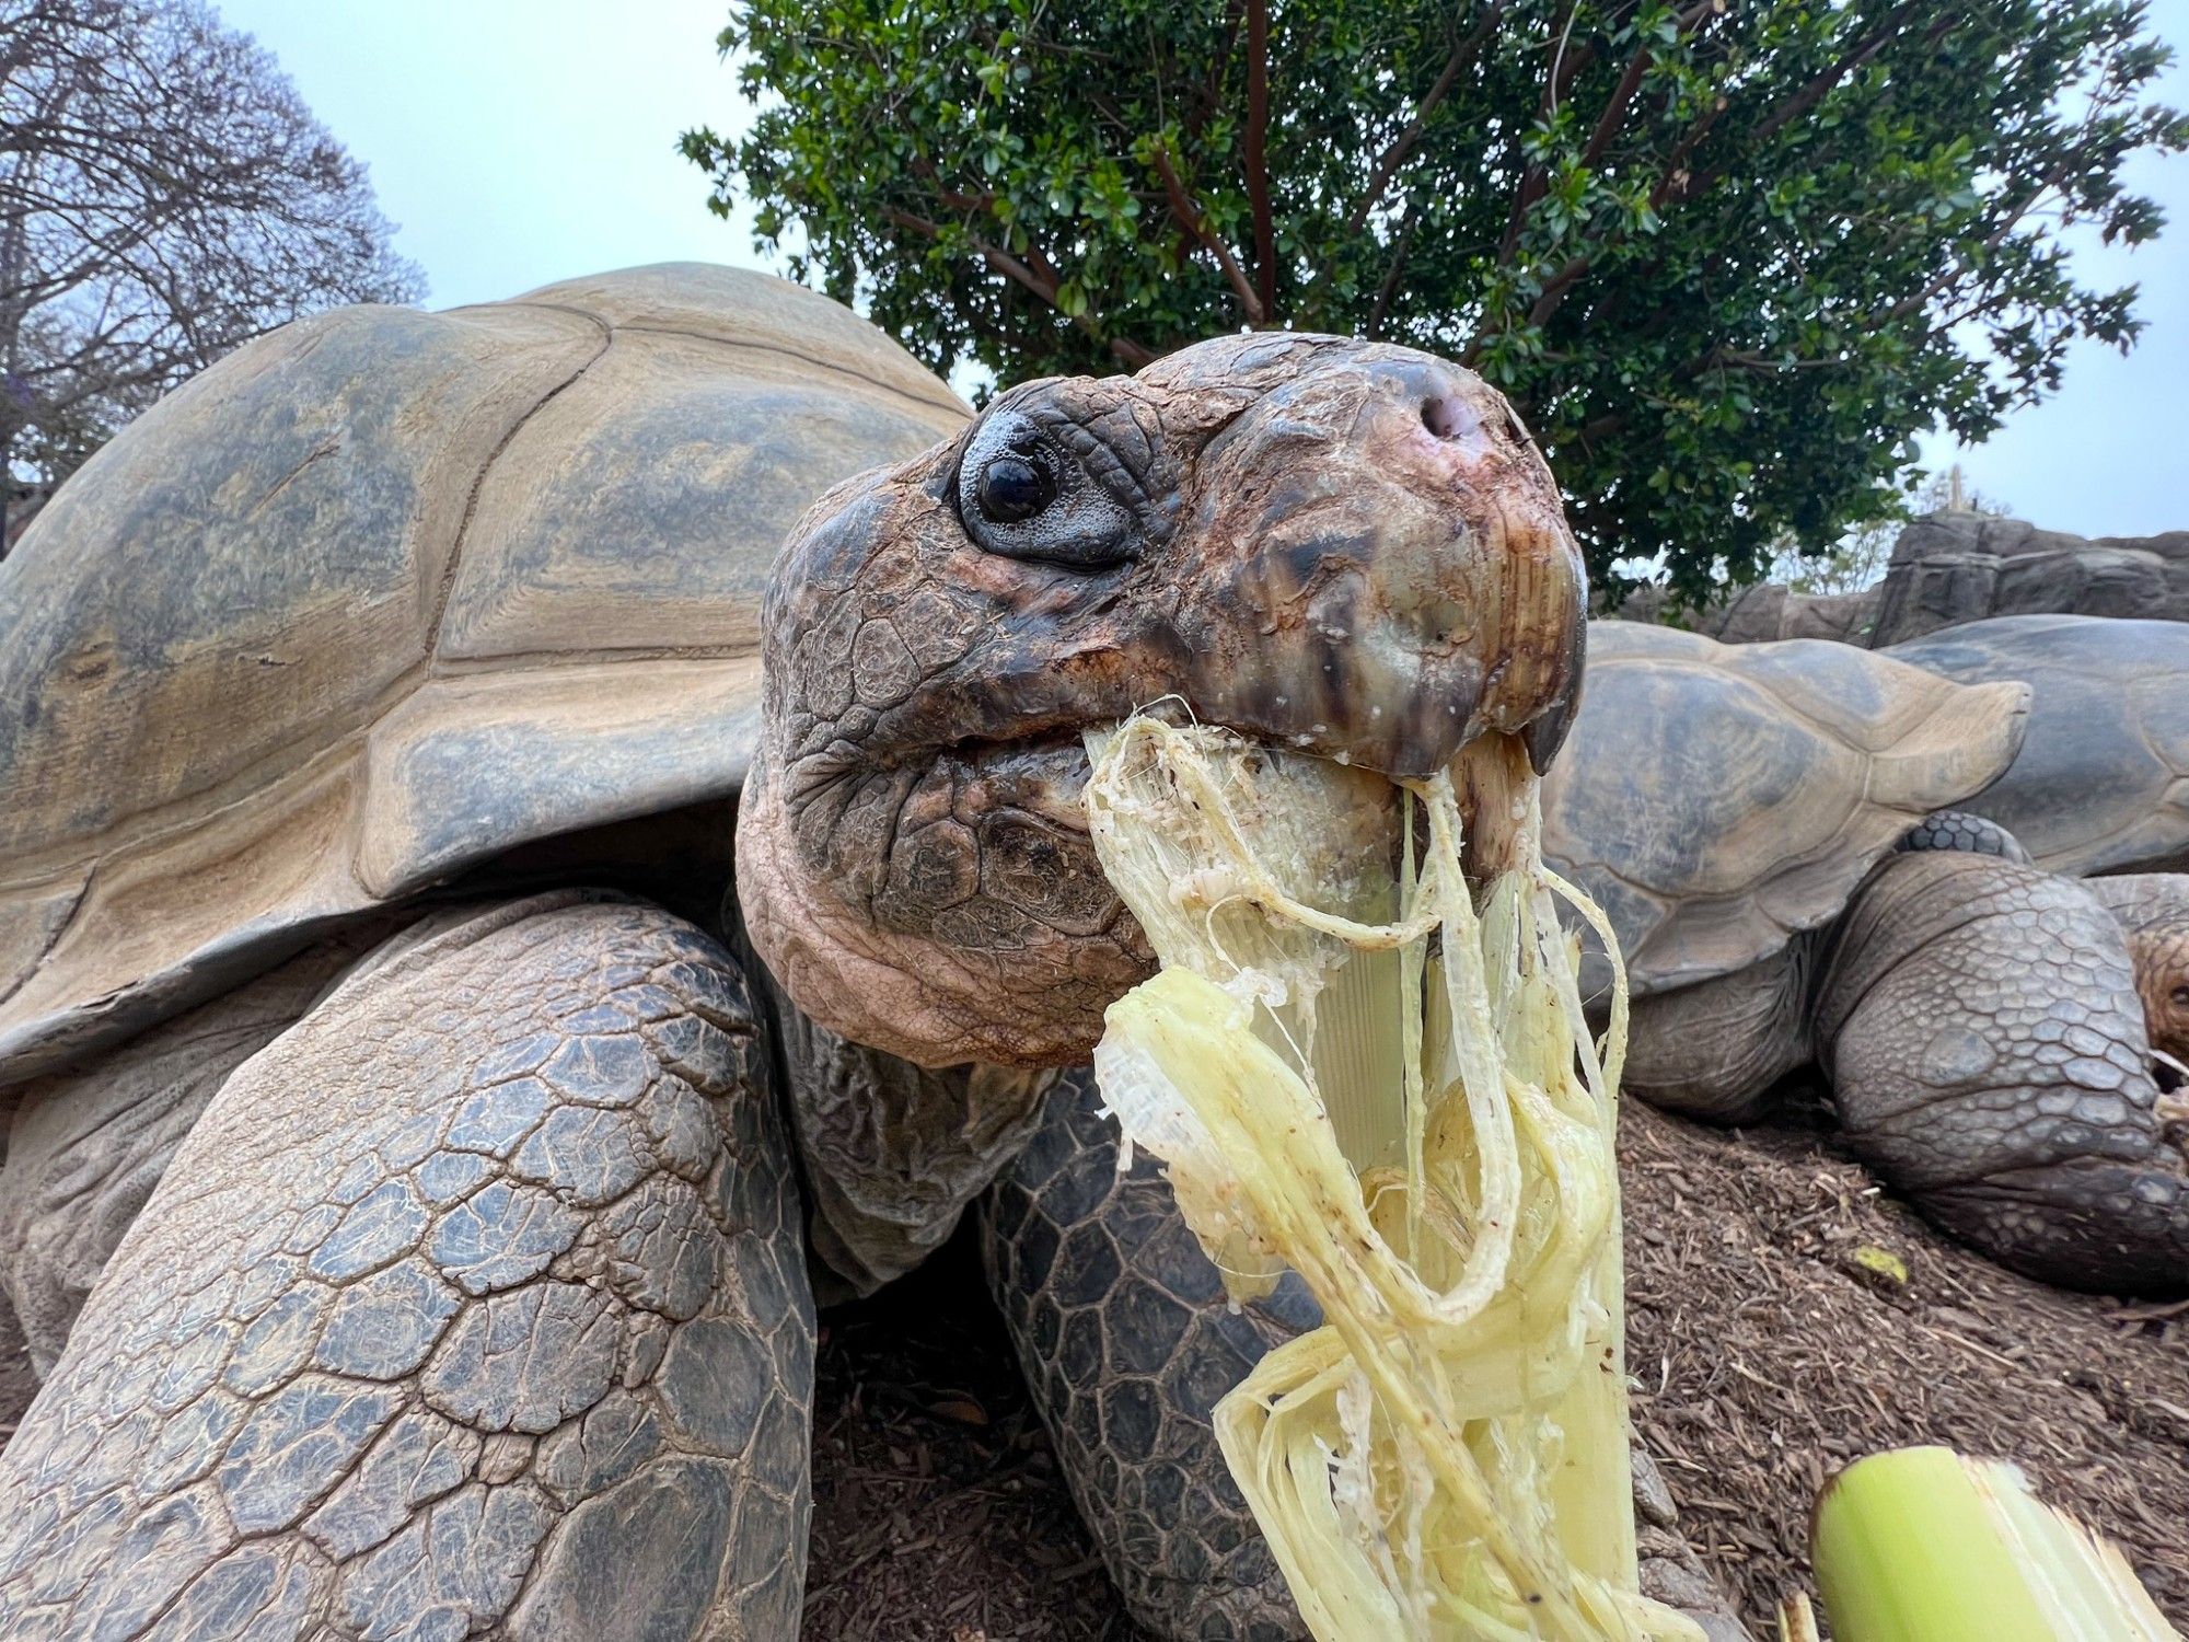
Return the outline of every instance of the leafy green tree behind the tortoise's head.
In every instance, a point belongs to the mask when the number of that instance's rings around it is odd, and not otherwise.
[[[2167,53],[2110,0],[744,0],[711,206],[937,368],[1116,370],[1241,326],[1513,394],[1598,576],[1703,593],[1885,517],[2128,346]]]

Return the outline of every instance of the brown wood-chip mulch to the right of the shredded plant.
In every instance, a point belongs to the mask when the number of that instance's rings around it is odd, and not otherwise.
[[[2189,1303],[2012,1276],[1887,1200],[1830,1136],[1622,1117],[1635,1421],[1749,1624],[1808,1579],[1848,1460],[1944,1443],[2018,1462],[2189,1629]],[[1856,1250],[1907,1263],[1872,1276]]]

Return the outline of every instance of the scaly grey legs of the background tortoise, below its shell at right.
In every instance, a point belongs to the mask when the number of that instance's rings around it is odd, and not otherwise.
[[[1812,1042],[1848,1136],[1948,1230],[2069,1287],[2189,1287],[2189,1097],[2150,1053],[2189,1060],[2189,876],[2053,878],[1939,810],[1839,924],[1637,998],[1622,1084],[1742,1123]]]

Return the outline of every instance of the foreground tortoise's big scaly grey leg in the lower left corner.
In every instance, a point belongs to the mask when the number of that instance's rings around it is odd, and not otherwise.
[[[812,1303],[736,961],[582,893],[390,950],[92,1290],[0,1633],[795,1635]]]

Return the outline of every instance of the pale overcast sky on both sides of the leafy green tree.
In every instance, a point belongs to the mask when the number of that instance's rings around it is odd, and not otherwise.
[[[690,125],[738,123],[714,55],[722,0],[219,0],[267,44],[313,112],[372,166],[429,307],[514,296],[633,263],[760,265],[749,219],[707,212],[676,153]],[[2189,0],[2156,0],[2189,57]],[[2176,63],[2165,96],[2189,103]],[[2141,252],[2088,247],[2093,278],[2136,280],[2150,322],[2126,359],[2077,348],[2064,390],[1959,455],[2012,512],[2082,534],[2189,530],[2189,155],[2139,160],[2130,184],[2174,228]]]

